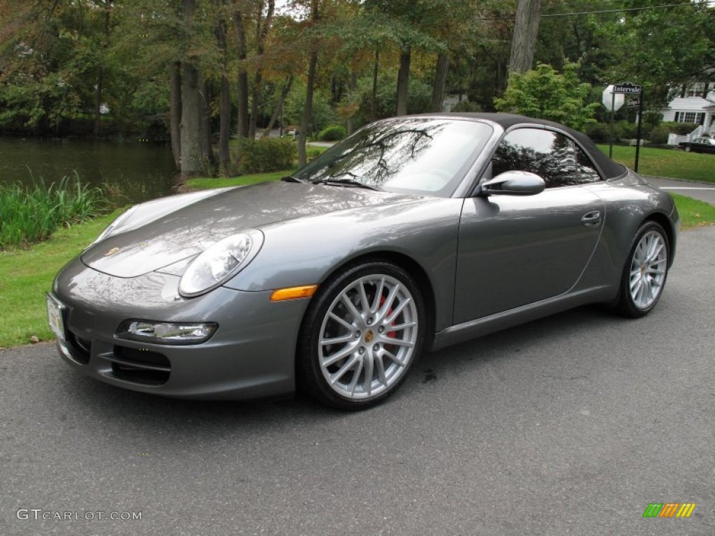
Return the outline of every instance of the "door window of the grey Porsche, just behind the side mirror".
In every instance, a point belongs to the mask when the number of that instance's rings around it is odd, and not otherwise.
[[[493,177],[508,171],[536,173],[547,188],[578,184],[573,142],[542,129],[517,129],[504,137],[492,157]]]

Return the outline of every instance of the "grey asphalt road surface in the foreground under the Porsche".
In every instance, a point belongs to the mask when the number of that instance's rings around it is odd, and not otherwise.
[[[713,259],[715,228],[685,232],[649,317],[586,307],[445,349],[357,414],[0,352],[0,535],[714,535]]]

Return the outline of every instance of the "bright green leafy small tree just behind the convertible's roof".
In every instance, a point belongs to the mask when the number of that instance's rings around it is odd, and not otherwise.
[[[593,114],[599,104],[588,103],[591,86],[578,79],[578,64],[567,63],[563,74],[551,65],[539,64],[524,74],[513,72],[501,99],[495,99],[498,111],[551,119],[583,130],[596,122]]]

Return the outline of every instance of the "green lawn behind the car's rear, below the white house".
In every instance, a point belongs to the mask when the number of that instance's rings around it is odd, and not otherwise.
[[[608,145],[599,145],[598,148],[608,154]],[[614,145],[613,160],[633,169],[636,162],[636,148]],[[638,156],[638,173],[687,181],[715,182],[715,154],[641,147],[641,154]]]

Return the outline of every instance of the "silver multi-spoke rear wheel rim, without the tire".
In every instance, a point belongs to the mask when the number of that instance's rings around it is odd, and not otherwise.
[[[667,262],[663,235],[657,231],[644,234],[633,251],[629,278],[631,299],[638,309],[648,309],[658,299],[666,279]]]

